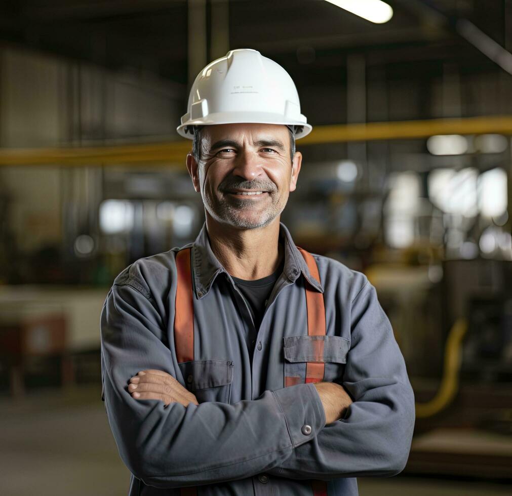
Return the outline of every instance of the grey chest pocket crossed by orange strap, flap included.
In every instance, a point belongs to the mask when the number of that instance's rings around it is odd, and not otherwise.
[[[350,341],[340,336],[289,336],[284,338],[285,387],[306,382],[307,362],[315,365],[308,370],[308,382],[343,381]],[[321,364],[318,366],[316,364]],[[312,379],[312,377],[317,376]]]

